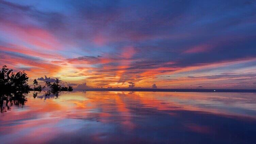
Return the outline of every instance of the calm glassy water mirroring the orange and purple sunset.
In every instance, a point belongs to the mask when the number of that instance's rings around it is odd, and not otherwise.
[[[1,99],[1,144],[256,143],[255,136],[255,93],[30,92]]]

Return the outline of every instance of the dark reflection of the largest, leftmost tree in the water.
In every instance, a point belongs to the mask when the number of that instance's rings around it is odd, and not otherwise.
[[[27,102],[28,92],[0,93],[1,113],[7,112],[12,106],[23,108]]]

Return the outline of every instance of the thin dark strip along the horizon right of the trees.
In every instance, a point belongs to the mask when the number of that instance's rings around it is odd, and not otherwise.
[[[85,89],[84,89],[85,90]],[[82,91],[74,89],[74,91]],[[148,92],[241,92],[256,93],[255,90],[240,89],[86,89],[86,91],[148,91]]]

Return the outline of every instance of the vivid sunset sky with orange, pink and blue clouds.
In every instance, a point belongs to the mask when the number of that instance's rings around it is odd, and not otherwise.
[[[4,65],[30,84],[255,89],[256,1],[0,0]]]

